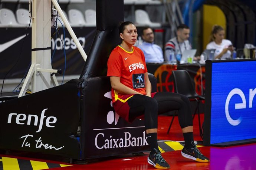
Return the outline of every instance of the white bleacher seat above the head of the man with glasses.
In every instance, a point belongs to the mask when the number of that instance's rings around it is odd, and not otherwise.
[[[161,27],[160,23],[151,22],[148,13],[144,10],[135,11],[135,23],[137,26]]]

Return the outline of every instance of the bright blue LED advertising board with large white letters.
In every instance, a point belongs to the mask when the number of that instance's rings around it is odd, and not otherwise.
[[[214,62],[210,144],[256,138],[256,61]]]

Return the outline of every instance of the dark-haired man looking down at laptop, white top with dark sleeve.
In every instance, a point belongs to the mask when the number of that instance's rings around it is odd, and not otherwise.
[[[185,24],[177,27],[177,37],[170,39],[164,47],[165,61],[170,61],[170,53],[181,54],[184,50],[191,50],[191,44],[188,41],[190,29]]]

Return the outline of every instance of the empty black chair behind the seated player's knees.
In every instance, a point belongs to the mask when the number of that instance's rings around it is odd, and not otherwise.
[[[204,96],[198,95],[195,91],[194,85],[190,79],[190,75],[186,70],[174,70],[173,72],[173,81],[174,81],[174,91],[179,94],[183,94],[188,97],[190,101],[196,101],[196,109],[194,111],[193,119],[198,111],[198,122],[199,122],[199,131],[200,136],[201,134],[201,122],[200,122],[200,110],[199,110],[199,103],[200,101],[204,101]],[[175,112],[176,113],[176,112]],[[173,115],[173,119],[175,116]],[[170,131],[171,125],[173,123],[173,119],[171,120],[170,126],[168,128],[168,132]]]

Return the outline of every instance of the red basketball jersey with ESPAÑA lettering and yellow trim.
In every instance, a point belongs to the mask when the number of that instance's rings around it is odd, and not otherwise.
[[[110,54],[108,59],[107,76],[120,77],[120,82],[129,88],[146,94],[144,73],[148,72],[145,62],[145,57],[140,48],[132,48],[132,52],[125,51],[120,45],[117,46]],[[117,100],[122,100],[122,94],[111,90],[113,103]]]

